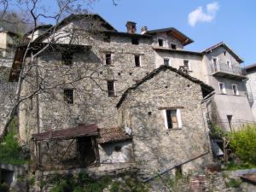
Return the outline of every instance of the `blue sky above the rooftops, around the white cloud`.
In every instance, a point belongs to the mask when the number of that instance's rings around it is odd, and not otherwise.
[[[190,26],[188,15],[198,7],[207,14],[207,4],[218,3],[215,18]],[[201,51],[224,41],[244,59],[245,65],[256,62],[256,1],[207,1],[207,0],[102,0],[92,5],[92,11],[102,15],[119,31],[125,31],[127,20],[137,22],[149,30],[173,26],[195,43],[185,49]],[[214,17],[214,16],[213,16]]]

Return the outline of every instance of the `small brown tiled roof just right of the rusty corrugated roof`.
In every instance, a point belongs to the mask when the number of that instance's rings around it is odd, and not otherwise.
[[[122,130],[121,127],[104,128],[100,129],[100,137],[98,143],[111,143],[124,141],[131,137]]]

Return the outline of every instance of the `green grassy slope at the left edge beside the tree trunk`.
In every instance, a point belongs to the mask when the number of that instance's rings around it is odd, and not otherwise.
[[[8,133],[0,143],[0,162],[6,164],[21,165],[27,163],[22,148],[17,139],[17,119],[14,118],[9,125]]]

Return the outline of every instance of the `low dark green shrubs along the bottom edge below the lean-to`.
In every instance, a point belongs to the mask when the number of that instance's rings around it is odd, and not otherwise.
[[[109,189],[110,192],[148,192],[147,186],[137,178],[125,177],[116,179],[104,176],[94,179],[86,172],[81,172],[77,176],[55,175],[49,179],[48,184],[54,185],[50,192],[102,192],[103,189]]]

